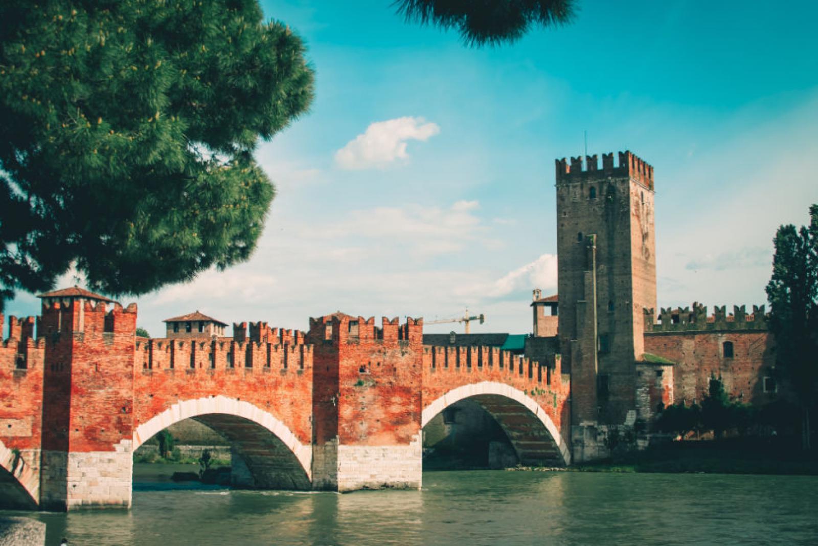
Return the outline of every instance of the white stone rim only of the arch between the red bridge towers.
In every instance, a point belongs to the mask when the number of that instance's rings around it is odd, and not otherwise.
[[[150,440],[153,435],[173,425],[173,423],[210,414],[242,417],[267,429],[290,449],[308,478],[312,479],[312,445],[302,444],[290,431],[290,428],[274,417],[272,413],[266,412],[244,400],[227,398],[227,396],[222,395],[183,400],[165,409],[164,412],[151,417],[133,431],[133,449],[136,450],[146,440]]]

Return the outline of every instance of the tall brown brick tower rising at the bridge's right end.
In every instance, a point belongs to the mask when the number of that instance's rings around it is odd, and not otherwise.
[[[630,151],[618,160],[556,160],[560,351],[577,461],[596,455],[583,441],[589,426],[622,424],[635,408],[642,309],[656,308],[654,169]]]

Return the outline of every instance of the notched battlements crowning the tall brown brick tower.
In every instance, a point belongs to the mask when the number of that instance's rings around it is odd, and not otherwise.
[[[572,157],[570,162],[565,158],[555,160],[556,183],[574,183],[589,179],[607,177],[630,177],[650,189],[654,189],[654,168],[645,160],[631,153],[620,151],[618,166],[613,165],[613,152],[602,154],[602,169],[599,158],[595,155]],[[583,165],[584,163],[584,165]]]

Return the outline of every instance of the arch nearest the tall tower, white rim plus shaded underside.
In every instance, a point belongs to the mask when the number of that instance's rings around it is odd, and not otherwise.
[[[482,381],[449,390],[423,408],[421,428],[463,399],[473,399],[500,423],[522,463],[571,463],[569,446],[546,410],[522,390],[504,383]]]

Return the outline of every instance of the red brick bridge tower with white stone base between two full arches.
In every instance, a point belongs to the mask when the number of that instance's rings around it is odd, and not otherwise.
[[[310,318],[314,489],[420,489],[423,321]]]

